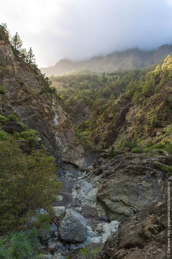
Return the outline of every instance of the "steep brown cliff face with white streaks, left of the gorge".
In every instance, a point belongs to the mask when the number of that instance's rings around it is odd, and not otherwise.
[[[75,159],[71,159],[71,146],[75,141],[74,128],[69,115],[63,109],[60,97],[49,93],[49,85],[40,75],[35,74],[26,63],[15,57],[9,43],[0,41],[0,85],[6,90],[0,94],[0,113],[8,116],[13,113],[27,125],[40,133],[42,143],[50,155],[54,155],[58,164],[63,160],[84,169],[90,163],[82,152],[82,161],[74,150]],[[91,157],[93,162],[95,157]]]

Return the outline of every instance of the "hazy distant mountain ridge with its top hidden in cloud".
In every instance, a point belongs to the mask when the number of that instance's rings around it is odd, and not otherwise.
[[[123,52],[112,52],[111,54],[98,57],[92,57],[89,60],[71,61],[68,58],[61,59],[54,66],[40,68],[41,72],[46,76],[62,75],[73,70],[89,69],[96,73],[129,70],[132,68],[142,68],[152,65],[165,55],[172,52],[172,45],[162,45],[157,50],[142,51],[138,48],[128,49]]]

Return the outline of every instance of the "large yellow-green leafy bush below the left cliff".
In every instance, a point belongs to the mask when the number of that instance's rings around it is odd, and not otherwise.
[[[33,151],[24,155],[16,140],[0,140],[1,231],[20,229],[28,208],[49,207],[62,189],[55,174],[55,158]]]

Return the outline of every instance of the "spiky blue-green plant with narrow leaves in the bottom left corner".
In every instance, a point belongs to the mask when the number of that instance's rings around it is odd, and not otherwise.
[[[8,259],[38,259],[36,250],[40,246],[39,239],[35,236],[37,231],[30,229],[28,232],[10,231],[1,237],[0,257]]]

